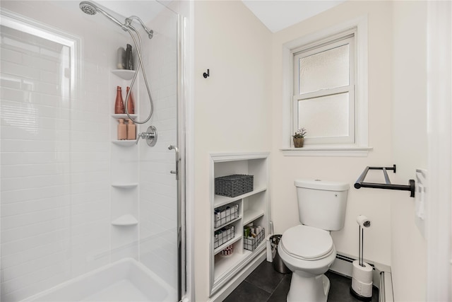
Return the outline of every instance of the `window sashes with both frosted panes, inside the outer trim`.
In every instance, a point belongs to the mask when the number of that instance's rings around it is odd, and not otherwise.
[[[355,33],[293,52],[294,129],[305,143],[355,144]]]

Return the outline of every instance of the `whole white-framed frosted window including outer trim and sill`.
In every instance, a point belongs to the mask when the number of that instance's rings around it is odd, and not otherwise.
[[[284,155],[367,156],[367,48],[367,16],[283,45]]]

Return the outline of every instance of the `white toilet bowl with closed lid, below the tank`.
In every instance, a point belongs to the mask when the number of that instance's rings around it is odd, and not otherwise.
[[[326,302],[330,281],[324,273],[336,257],[330,233],[311,226],[294,226],[283,233],[278,253],[292,271],[287,302]]]

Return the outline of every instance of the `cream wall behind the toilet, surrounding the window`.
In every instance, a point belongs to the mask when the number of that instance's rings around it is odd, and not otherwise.
[[[272,48],[272,173],[271,207],[275,232],[283,233],[299,223],[294,180],[297,178],[337,180],[350,184],[345,227],[332,232],[339,253],[357,257],[356,217],[371,219],[364,234],[364,257],[374,262],[391,264],[391,200],[386,190],[362,188],[353,184],[368,165],[392,166],[392,27],[390,1],[347,1],[329,11],[302,21],[273,35]],[[279,148],[283,132],[283,44],[319,30],[367,16],[369,40],[369,146],[367,157],[283,156]],[[309,129],[307,129],[309,132]],[[379,173],[377,173],[379,172]],[[391,173],[392,174],[392,173]],[[366,181],[382,182],[381,171],[369,172]],[[393,179],[393,175],[390,175]],[[405,193],[406,194],[406,193]]]

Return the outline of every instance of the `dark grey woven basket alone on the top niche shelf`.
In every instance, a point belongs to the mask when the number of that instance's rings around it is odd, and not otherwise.
[[[253,175],[227,175],[215,178],[215,194],[236,197],[253,190]]]

